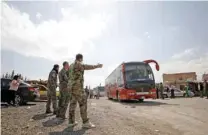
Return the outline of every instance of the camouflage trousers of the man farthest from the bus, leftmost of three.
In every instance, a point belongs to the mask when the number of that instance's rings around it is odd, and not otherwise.
[[[53,111],[57,111],[56,87],[49,87],[47,91],[46,111],[51,110],[51,103],[53,104]]]

